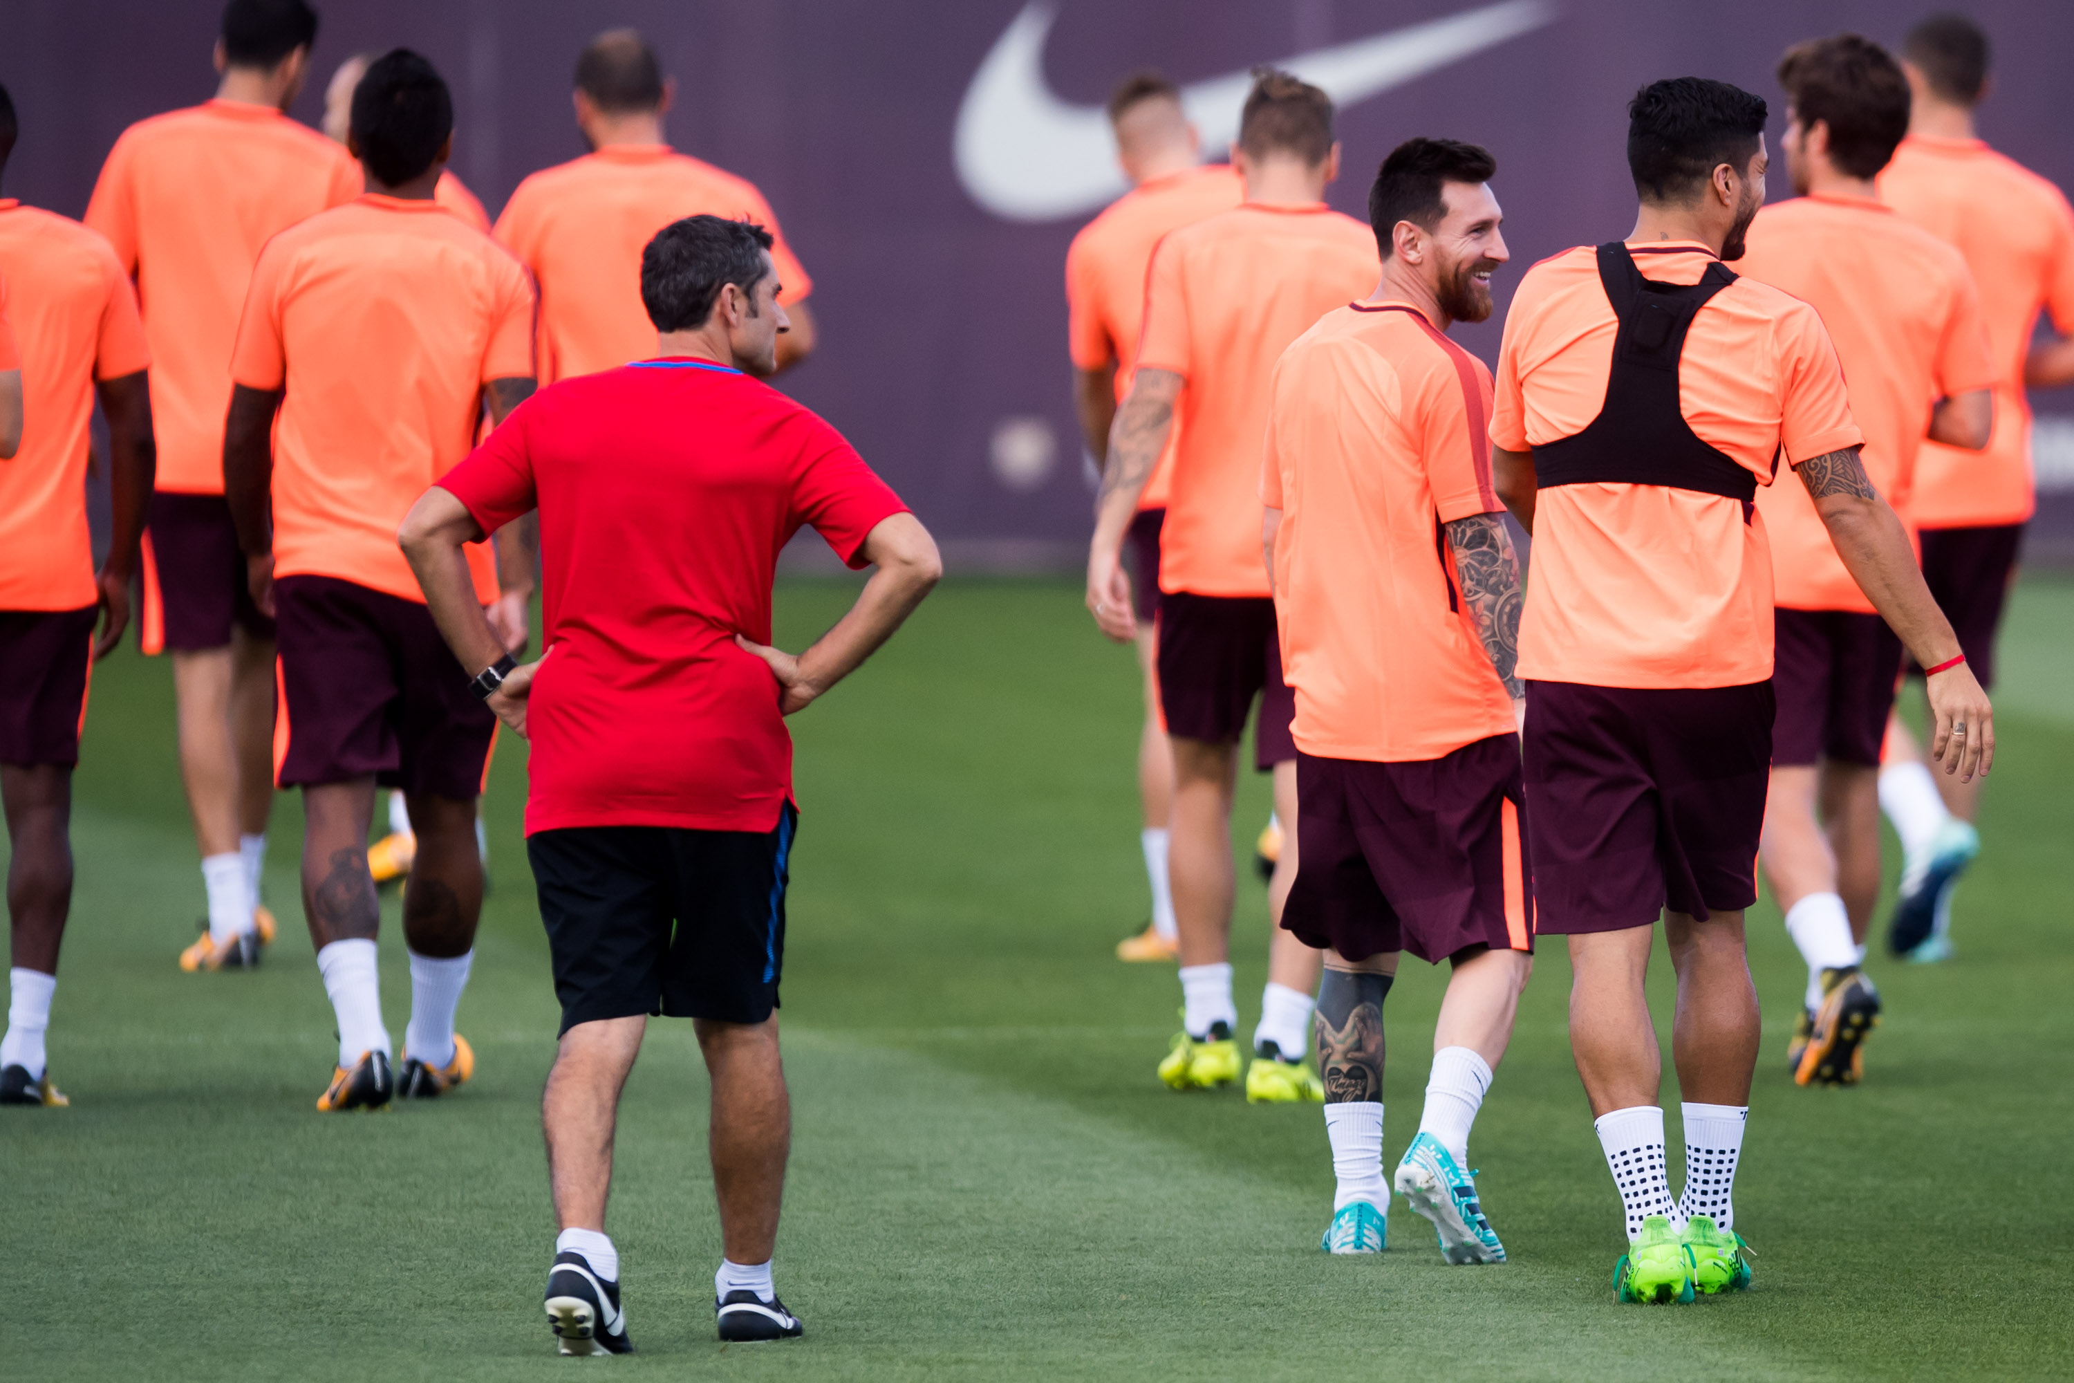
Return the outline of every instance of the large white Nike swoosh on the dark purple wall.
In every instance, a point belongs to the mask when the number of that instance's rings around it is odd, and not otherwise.
[[[1025,4],[979,64],[958,106],[952,135],[958,180],[973,201],[1012,222],[1093,211],[1126,189],[1108,112],[1101,106],[1068,106],[1045,85],[1043,44],[1056,19],[1054,0]],[[1344,108],[1553,19],[1551,0],[1504,0],[1317,48],[1276,66],[1317,83]],[[1251,87],[1251,70],[1182,87],[1182,108],[1203,133],[1205,149],[1224,149],[1238,137],[1238,108]]]

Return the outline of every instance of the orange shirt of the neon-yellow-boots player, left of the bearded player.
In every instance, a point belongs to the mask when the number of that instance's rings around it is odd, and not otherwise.
[[[1265,597],[1261,444],[1276,361],[1334,307],[1375,290],[1375,232],[1325,203],[1244,203],[1170,232],[1153,251],[1137,369],[1186,384],[1159,589]]]

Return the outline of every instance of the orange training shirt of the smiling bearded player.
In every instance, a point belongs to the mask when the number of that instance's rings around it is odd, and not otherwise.
[[[1441,525],[1491,487],[1491,371],[1406,303],[1352,303],[1273,373],[1261,502],[1276,531],[1296,749],[1439,759],[1512,734],[1512,699],[1460,599]]]

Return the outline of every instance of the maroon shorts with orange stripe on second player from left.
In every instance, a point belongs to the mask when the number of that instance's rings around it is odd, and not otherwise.
[[[222,649],[232,624],[253,639],[274,637],[274,620],[253,603],[222,496],[151,493],[139,583],[137,643],[145,653]]]

